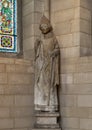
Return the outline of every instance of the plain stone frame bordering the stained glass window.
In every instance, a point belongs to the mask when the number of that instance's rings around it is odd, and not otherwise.
[[[17,52],[0,52],[0,57],[22,57],[22,0],[17,0]]]

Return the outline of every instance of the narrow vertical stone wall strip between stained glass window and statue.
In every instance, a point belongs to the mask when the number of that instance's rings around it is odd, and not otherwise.
[[[34,57],[34,0],[22,1],[23,54],[25,59]]]

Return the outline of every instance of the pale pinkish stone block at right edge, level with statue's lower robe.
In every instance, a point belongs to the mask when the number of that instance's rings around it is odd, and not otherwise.
[[[79,95],[78,107],[92,107],[92,95]]]

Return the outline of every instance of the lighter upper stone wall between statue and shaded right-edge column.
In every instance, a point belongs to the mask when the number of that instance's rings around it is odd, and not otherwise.
[[[62,58],[80,56],[80,24],[76,19],[78,7],[78,0],[52,0],[52,24]]]

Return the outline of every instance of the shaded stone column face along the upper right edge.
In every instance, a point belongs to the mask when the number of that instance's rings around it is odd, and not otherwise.
[[[79,12],[80,56],[92,55],[92,1],[80,0]]]

